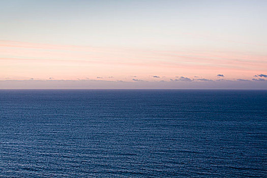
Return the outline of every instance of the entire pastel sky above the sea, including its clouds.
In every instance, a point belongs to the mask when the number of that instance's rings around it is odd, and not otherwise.
[[[0,2],[0,88],[267,89],[267,1]]]

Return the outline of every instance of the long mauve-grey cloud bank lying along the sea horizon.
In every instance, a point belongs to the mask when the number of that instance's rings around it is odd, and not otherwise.
[[[108,80],[0,80],[0,89],[257,89],[267,90],[267,80],[262,78],[251,81],[201,81],[188,82],[184,77],[182,80],[170,79],[170,81],[144,81],[132,79],[129,81]]]

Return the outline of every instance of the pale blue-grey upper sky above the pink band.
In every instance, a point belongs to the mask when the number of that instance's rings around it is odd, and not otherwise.
[[[1,1],[0,39],[263,53],[266,7],[246,0]]]

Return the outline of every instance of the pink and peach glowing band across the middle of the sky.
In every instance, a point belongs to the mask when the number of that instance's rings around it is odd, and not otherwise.
[[[267,71],[264,55],[203,50],[151,50],[0,41],[0,79],[169,80],[176,76],[252,79]],[[151,76],[159,76],[154,78]],[[110,78],[112,77],[112,78]]]

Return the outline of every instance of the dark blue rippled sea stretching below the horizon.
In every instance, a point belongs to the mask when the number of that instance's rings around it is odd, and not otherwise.
[[[1,177],[266,177],[267,91],[2,90]]]

